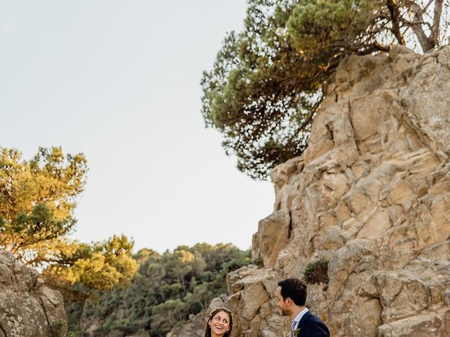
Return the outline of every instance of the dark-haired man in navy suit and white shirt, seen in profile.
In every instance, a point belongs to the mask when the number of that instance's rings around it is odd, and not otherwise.
[[[307,301],[307,285],[300,279],[285,279],[276,289],[278,307],[283,315],[290,316],[291,337],[330,337],[330,331],[322,320],[312,315],[304,306]]]

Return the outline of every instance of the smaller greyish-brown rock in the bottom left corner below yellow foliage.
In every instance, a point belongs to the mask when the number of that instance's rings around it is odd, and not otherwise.
[[[0,251],[0,337],[63,337],[67,328],[63,296]]]

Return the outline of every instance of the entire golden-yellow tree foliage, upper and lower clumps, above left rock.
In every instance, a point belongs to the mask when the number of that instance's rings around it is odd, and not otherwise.
[[[18,150],[0,148],[0,249],[40,267],[65,293],[75,285],[86,293],[112,289],[129,282],[138,269],[127,237],[94,244],[68,239],[87,171],[83,154],[65,156],[60,147],[41,147],[30,160]]]

